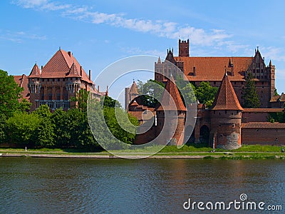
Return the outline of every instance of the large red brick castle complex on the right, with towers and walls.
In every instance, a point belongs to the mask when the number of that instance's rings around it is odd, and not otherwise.
[[[219,87],[212,107],[206,108],[197,104],[195,127],[185,124],[185,116],[190,106],[185,106],[175,86],[175,68],[179,68],[187,81],[199,86],[202,81],[209,81],[211,86]],[[252,73],[255,86],[261,102],[261,108],[242,108],[242,88],[245,85],[247,73]],[[165,76],[171,76],[166,78]],[[179,40],[179,55],[173,56],[173,49],[167,50],[165,61],[160,58],[155,63],[155,80],[165,83],[162,103],[164,108],[157,106],[149,108],[142,106],[138,97],[138,86],[135,81],[130,88],[125,88],[125,107],[129,113],[138,118],[143,128],[148,121],[155,121],[145,133],[137,136],[135,143],[142,144],[157,138],[164,126],[167,115],[167,125],[175,121],[174,133],[166,133],[165,141],[170,141],[170,134],[175,144],[182,144],[184,139],[190,142],[209,142],[214,148],[234,149],[244,144],[285,144],[285,123],[269,123],[270,112],[284,111],[284,94],[275,96],[275,66],[269,62],[266,66],[259,49],[253,57],[192,57],[190,56],[189,39]],[[171,96],[175,105],[167,103]],[[144,115],[149,114],[155,120]],[[170,115],[170,116],[169,116]],[[144,117],[143,117],[144,116]],[[143,120],[142,118],[147,118]],[[170,127],[172,128],[172,127]],[[191,135],[191,136],[190,136]]]

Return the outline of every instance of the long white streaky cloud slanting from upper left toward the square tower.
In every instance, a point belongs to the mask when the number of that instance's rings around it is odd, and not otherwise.
[[[19,0],[14,2],[24,8],[33,8],[44,11],[61,11],[62,16],[71,19],[90,22],[93,24],[108,24],[110,26],[130,29],[142,33],[155,34],[169,39],[191,38],[194,45],[212,46],[221,44],[221,41],[230,38],[224,30],[212,29],[205,31],[193,26],[180,26],[172,21],[128,19],[125,14],[106,14],[100,11],[93,11],[88,6],[74,6],[71,4],[60,4],[48,0]]]

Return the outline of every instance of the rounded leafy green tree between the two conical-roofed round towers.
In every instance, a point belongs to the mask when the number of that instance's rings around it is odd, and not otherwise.
[[[216,96],[218,90],[219,88],[212,87],[209,82],[202,81],[195,89],[195,95],[200,103],[203,103],[206,106],[212,106],[214,97]]]

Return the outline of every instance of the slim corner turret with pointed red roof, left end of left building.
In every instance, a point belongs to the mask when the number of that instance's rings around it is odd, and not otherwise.
[[[35,63],[30,75],[28,76],[28,91],[30,91],[31,111],[38,108],[39,94],[41,92],[41,70]]]

